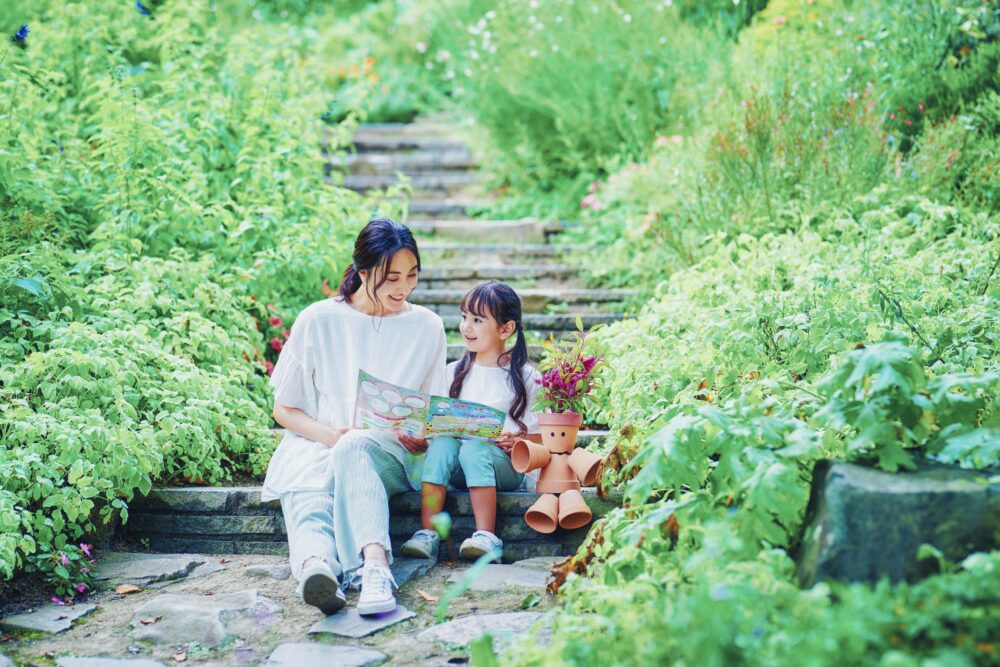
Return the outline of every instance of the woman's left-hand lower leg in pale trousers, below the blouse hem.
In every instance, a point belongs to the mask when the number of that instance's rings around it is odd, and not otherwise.
[[[343,574],[333,536],[333,496],[326,491],[294,491],[281,497],[281,513],[288,533],[292,576],[304,567],[325,561],[338,578]]]

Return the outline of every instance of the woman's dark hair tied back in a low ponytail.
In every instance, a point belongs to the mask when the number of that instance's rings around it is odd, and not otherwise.
[[[371,297],[376,305],[381,307],[375,290],[382,286],[389,273],[389,262],[400,250],[409,250],[417,258],[417,271],[420,270],[420,251],[413,234],[406,227],[389,218],[376,218],[365,225],[354,241],[354,262],[344,269],[340,279],[340,297],[347,303],[351,295],[361,287],[360,271],[368,271],[368,284]]]

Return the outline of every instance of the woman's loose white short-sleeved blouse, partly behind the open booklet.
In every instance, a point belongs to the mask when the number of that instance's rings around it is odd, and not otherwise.
[[[321,424],[348,428],[354,423],[359,370],[403,387],[441,393],[446,360],[444,325],[427,308],[411,304],[399,315],[373,317],[333,297],[299,314],[270,384],[275,402],[298,408]],[[413,463],[413,455],[394,435],[377,435],[385,437],[404,465]],[[274,500],[289,491],[332,490],[332,451],[285,431],[267,467],[261,499]]]

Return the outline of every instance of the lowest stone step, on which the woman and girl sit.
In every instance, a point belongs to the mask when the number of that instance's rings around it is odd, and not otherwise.
[[[528,528],[524,512],[537,497],[526,492],[497,494],[496,532],[505,542],[504,560],[569,555],[586,536],[589,526],[551,535]],[[593,489],[585,489],[584,497],[595,518],[620,504],[620,499],[598,499]],[[389,532],[398,547],[420,527],[420,494],[400,494],[389,506]],[[472,534],[475,523],[468,492],[450,493],[445,510],[452,516],[456,544]],[[261,501],[259,487],[153,489],[132,501],[121,537],[161,553],[285,554],[288,550],[280,505]]]

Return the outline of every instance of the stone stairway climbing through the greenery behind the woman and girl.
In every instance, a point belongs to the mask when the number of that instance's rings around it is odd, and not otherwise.
[[[536,361],[539,344],[576,328],[621,319],[629,290],[594,290],[582,286],[577,270],[561,260],[550,241],[564,225],[536,219],[474,218],[489,205],[477,161],[454,123],[427,120],[411,124],[372,124],[359,128],[355,152],[330,158],[330,182],[357,191],[409,181],[413,191],[407,225],[417,237],[423,270],[411,296],[441,315],[449,337],[448,358],[465,349],[458,336],[458,304],[475,285],[490,279],[510,283],[521,295],[529,350]],[[581,434],[587,446],[603,431]],[[497,534],[504,540],[504,560],[572,553],[587,529],[540,535],[524,523],[534,493],[498,494]],[[611,503],[585,493],[595,516]],[[420,496],[401,494],[391,504],[391,534],[398,546],[419,528]],[[450,494],[454,537],[475,528],[468,493]],[[130,508],[123,537],[154,551],[173,553],[285,553],[284,522],[277,503],[262,503],[256,487],[156,489]]]

